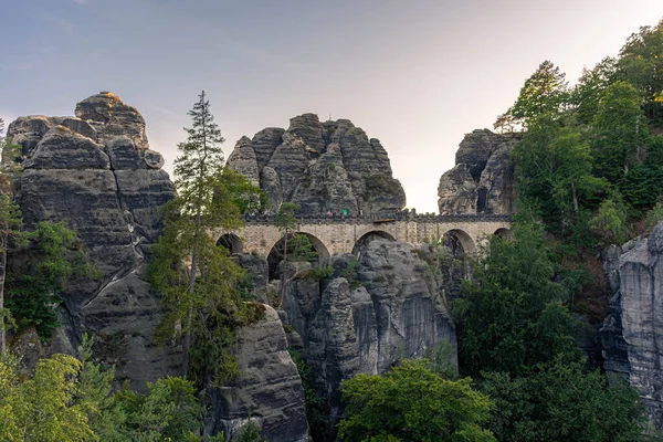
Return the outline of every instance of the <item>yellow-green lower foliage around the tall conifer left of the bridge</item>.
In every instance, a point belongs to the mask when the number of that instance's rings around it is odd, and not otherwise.
[[[221,383],[238,373],[228,348],[234,343],[233,327],[245,320],[246,308],[236,290],[243,272],[224,248],[217,246],[211,235],[217,225],[209,218],[204,219],[209,229],[196,236],[196,221],[187,214],[182,202],[176,199],[167,204],[162,235],[149,267],[149,280],[162,294],[165,312],[156,337],[160,343],[179,338],[181,325],[181,334],[194,337],[194,345],[187,348],[187,372],[192,370],[202,376],[211,369],[214,380]],[[198,245],[200,265],[191,290],[191,270],[186,263],[193,243]]]

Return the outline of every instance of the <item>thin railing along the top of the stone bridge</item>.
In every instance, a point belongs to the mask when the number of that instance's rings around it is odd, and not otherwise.
[[[415,210],[401,210],[393,213],[358,215],[341,213],[323,213],[323,214],[299,214],[296,215],[297,221],[302,224],[330,224],[330,223],[350,223],[350,224],[368,224],[368,223],[389,223],[396,221],[414,221],[414,222],[511,222],[511,214],[439,214],[439,213],[417,213]],[[246,224],[275,224],[275,214],[255,213],[244,214]]]

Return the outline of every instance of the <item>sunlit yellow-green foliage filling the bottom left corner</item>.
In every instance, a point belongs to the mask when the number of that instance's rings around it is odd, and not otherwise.
[[[94,364],[91,341],[83,360],[54,355],[40,359],[34,375],[18,359],[0,359],[0,440],[43,442],[201,441],[203,408],[193,383],[159,379],[145,394],[113,392],[112,369]],[[222,435],[210,441],[221,442]]]

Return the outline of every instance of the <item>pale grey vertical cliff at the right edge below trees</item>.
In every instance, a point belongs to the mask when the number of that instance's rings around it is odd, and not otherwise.
[[[621,252],[621,253],[620,253]],[[663,425],[663,223],[604,256],[619,287],[601,329],[606,371],[625,376],[640,390],[651,419]]]

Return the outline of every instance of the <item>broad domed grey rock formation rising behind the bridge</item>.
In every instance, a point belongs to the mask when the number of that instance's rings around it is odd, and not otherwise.
[[[266,128],[253,139],[242,137],[228,165],[260,185],[271,212],[284,201],[298,203],[302,214],[347,209],[370,215],[406,206],[387,151],[348,119],[320,123],[317,115],[299,115],[287,130]]]

